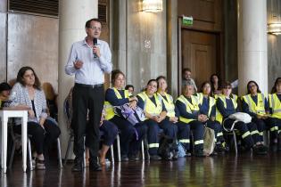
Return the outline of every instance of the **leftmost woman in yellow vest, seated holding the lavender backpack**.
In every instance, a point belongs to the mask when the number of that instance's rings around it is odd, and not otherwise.
[[[128,120],[114,113],[114,106],[122,106],[129,103],[131,108],[136,107],[136,96],[130,96],[128,90],[123,89],[125,75],[119,70],[112,71],[112,88],[108,88],[105,93],[104,108],[106,120],[110,120],[120,130],[121,161],[138,160],[138,150],[145,137],[147,127],[143,123],[133,126]]]

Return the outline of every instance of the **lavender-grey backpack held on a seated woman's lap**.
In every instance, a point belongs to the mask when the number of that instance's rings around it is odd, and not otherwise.
[[[114,112],[120,117],[125,118],[132,125],[136,125],[142,121],[145,121],[145,112],[140,107],[136,106],[136,109],[133,110],[129,107],[128,103],[123,104],[122,106],[114,107]]]

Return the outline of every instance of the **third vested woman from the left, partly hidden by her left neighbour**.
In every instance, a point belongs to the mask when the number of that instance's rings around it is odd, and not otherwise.
[[[167,110],[167,116],[164,119],[166,120],[165,124],[166,126],[178,126],[178,108],[174,104],[173,97],[167,93],[167,79],[166,77],[160,76],[157,77],[156,80],[158,83],[157,94],[161,97],[161,100]],[[171,130],[173,131],[167,132],[169,133],[169,136],[177,138],[177,132],[175,132],[175,129]],[[186,147],[186,142],[189,142],[189,137],[186,137],[186,130],[188,130],[186,126],[178,126],[178,142],[181,142],[184,147]]]

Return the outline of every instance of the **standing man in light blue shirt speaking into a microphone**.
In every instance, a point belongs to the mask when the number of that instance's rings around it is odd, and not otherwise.
[[[65,66],[68,75],[75,75],[72,91],[73,118],[71,127],[74,133],[75,162],[72,171],[82,171],[84,156],[84,136],[89,148],[89,169],[100,171],[97,163],[99,148],[99,125],[103,110],[103,73],[112,71],[112,53],[109,45],[100,37],[102,24],[97,19],[87,20],[87,37],[74,43]],[[88,110],[88,123],[87,123]]]

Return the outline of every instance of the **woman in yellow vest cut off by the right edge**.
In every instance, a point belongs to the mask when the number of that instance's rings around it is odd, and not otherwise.
[[[281,144],[280,130],[281,130],[281,77],[277,77],[274,86],[272,87],[271,94],[269,94],[269,124],[275,126],[276,131],[273,135],[273,143],[270,145],[271,150],[277,151],[277,143]]]

